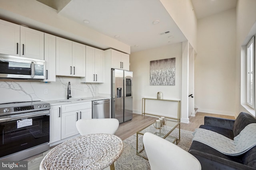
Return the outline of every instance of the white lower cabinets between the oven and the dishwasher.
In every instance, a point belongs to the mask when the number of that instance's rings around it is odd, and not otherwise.
[[[92,119],[92,102],[51,106],[50,143],[77,135],[76,121],[79,119]]]

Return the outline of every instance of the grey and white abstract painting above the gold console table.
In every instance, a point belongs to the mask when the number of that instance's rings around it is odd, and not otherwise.
[[[150,61],[150,85],[175,86],[175,58]]]

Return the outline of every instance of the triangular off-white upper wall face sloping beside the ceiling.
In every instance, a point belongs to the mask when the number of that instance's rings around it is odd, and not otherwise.
[[[160,0],[188,42],[197,51],[197,18],[190,0]]]

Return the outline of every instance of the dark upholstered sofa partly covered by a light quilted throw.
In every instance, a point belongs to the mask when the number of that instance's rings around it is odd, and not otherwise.
[[[206,116],[204,125],[200,125],[200,128],[234,139],[250,123],[256,123],[255,117],[241,112],[236,120]],[[202,170],[256,170],[256,146],[240,156],[228,156],[208,145],[193,141],[188,152],[199,160]]]

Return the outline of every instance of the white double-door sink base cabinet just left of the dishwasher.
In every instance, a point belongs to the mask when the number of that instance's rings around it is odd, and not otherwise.
[[[92,102],[62,105],[61,139],[78,134],[76,121],[79,119],[92,119]]]

